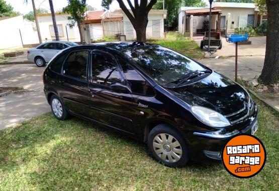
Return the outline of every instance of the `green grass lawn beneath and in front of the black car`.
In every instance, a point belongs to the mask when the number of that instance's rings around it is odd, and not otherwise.
[[[143,143],[47,113],[0,131],[0,190],[279,190],[279,115],[256,101],[267,159],[252,178],[236,178],[221,163],[165,167]]]

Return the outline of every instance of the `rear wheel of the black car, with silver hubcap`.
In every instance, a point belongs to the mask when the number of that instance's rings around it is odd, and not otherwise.
[[[60,105],[59,104],[55,105],[54,102],[56,100],[60,103]],[[59,99],[58,96],[56,96],[56,95],[52,95],[51,96],[51,98],[50,98],[50,107],[51,107],[52,114],[57,119],[63,121],[63,120],[66,120],[69,117],[69,113],[68,113],[67,109],[65,108],[64,104],[62,103],[62,101]],[[62,114],[58,110],[62,111]]]

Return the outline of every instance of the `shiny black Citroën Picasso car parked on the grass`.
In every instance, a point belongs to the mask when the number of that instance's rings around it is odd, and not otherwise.
[[[155,44],[71,47],[50,61],[43,81],[57,119],[116,129],[167,166],[220,160],[229,137],[257,129],[257,106],[240,85]]]

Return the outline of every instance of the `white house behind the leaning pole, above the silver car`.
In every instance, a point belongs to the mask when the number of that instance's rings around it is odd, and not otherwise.
[[[69,27],[68,14],[56,13],[55,19],[59,34],[59,40],[61,41],[72,41],[80,42],[78,27],[74,26],[73,28]],[[38,22],[41,31],[41,37],[43,42],[55,40],[55,33],[52,23],[52,17],[50,13],[47,14],[38,14]]]

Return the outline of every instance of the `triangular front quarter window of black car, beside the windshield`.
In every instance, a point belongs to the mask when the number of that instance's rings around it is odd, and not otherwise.
[[[133,93],[148,96],[155,95],[151,85],[135,69],[133,69],[129,63],[119,57],[117,59],[121,65],[127,81],[132,88]]]

